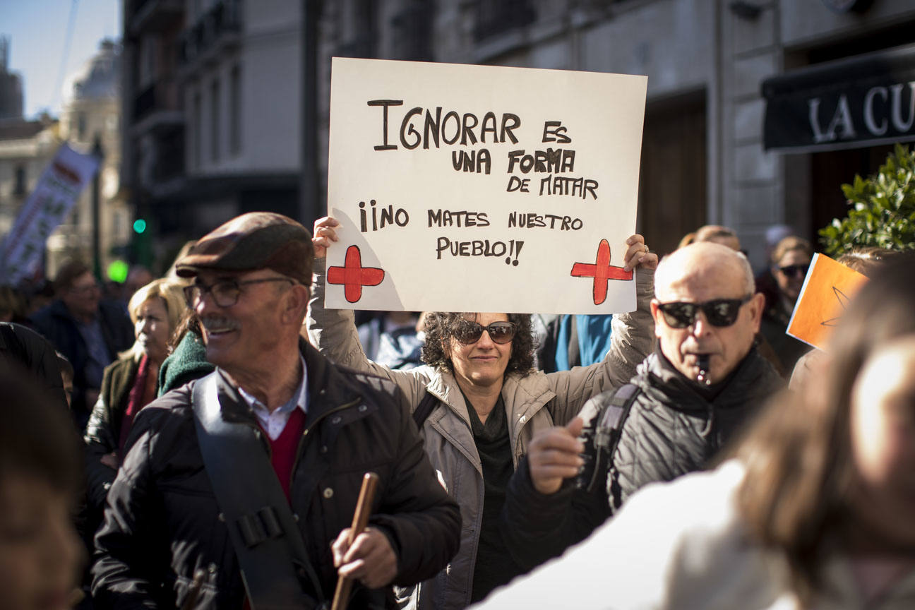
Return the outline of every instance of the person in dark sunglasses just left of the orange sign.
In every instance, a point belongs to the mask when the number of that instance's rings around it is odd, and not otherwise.
[[[785,334],[785,330],[812,260],[813,247],[809,241],[800,237],[786,237],[772,250],[770,271],[778,292],[766,304],[762,316],[762,334],[775,350],[786,375],[791,373],[794,363],[810,349],[800,339]]]

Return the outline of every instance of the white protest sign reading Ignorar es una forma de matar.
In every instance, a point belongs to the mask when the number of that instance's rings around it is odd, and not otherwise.
[[[333,59],[326,305],[635,309],[646,77]]]

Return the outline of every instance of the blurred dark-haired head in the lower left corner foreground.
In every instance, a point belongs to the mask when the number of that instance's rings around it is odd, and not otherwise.
[[[85,559],[70,519],[80,440],[24,371],[0,360],[0,608],[64,610]]]

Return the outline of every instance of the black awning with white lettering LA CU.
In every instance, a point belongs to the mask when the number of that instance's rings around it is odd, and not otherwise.
[[[786,153],[915,140],[915,45],[792,70],[762,82],[763,144]]]

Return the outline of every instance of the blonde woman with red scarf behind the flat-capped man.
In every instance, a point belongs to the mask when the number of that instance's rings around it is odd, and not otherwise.
[[[159,366],[168,355],[168,337],[187,306],[178,285],[154,280],[135,292],[127,309],[136,340],[105,368],[102,391],[86,426],[90,535],[101,523],[105,496],[121,464],[134,418],[156,399],[156,381]]]

